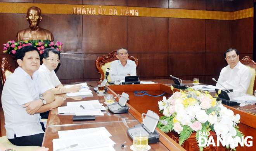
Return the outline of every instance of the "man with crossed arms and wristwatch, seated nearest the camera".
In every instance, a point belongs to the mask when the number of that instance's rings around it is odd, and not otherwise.
[[[45,127],[39,113],[61,106],[63,98],[55,98],[35,72],[40,56],[34,46],[22,47],[16,58],[19,67],[7,77],[2,92],[6,135],[18,146],[42,146]]]

